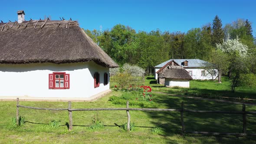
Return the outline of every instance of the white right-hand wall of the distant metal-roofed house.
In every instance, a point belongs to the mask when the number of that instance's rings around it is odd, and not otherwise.
[[[207,72],[204,69],[200,69],[200,68],[185,68],[188,72],[192,71],[192,78],[193,79],[201,79],[201,80],[210,80],[212,79],[212,75],[210,75],[209,72]],[[216,71],[216,75],[213,76],[213,79],[217,78],[218,76],[218,71],[217,69],[214,69]],[[205,71],[205,76],[201,76],[201,72]]]

